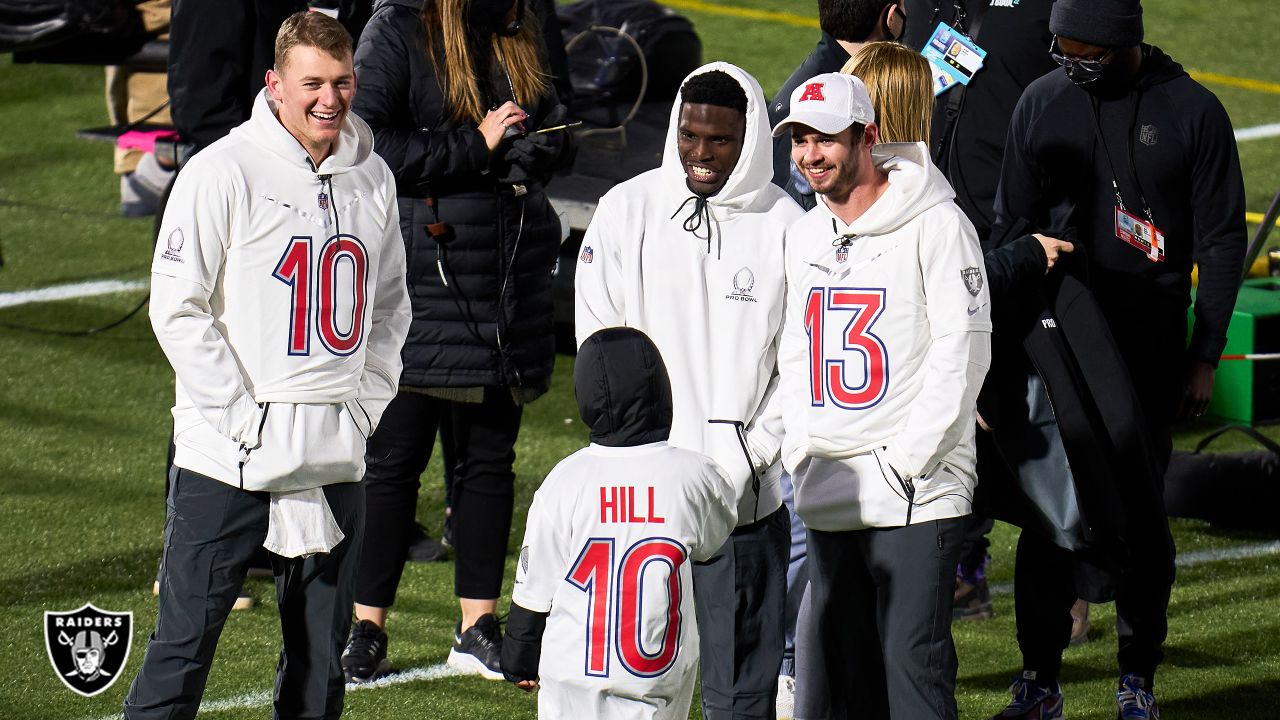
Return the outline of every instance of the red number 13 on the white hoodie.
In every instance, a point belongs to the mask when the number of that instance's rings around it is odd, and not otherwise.
[[[822,407],[831,401],[845,410],[865,410],[884,397],[888,388],[888,348],[872,333],[872,325],[884,311],[884,288],[809,290],[804,328],[809,334],[812,406]],[[840,347],[827,347],[823,336],[828,324],[844,324]]]

